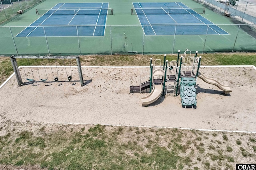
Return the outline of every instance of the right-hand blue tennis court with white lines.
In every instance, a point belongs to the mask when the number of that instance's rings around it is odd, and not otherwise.
[[[133,6],[145,35],[229,34],[204,18],[203,8],[189,8],[182,2],[134,2]]]

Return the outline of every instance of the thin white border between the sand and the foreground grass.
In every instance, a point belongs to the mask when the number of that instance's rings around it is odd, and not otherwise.
[[[193,128],[165,127],[165,126],[139,126],[139,125],[86,124],[86,123],[67,123],[67,122],[57,122],[57,124],[69,124],[69,125],[105,125],[105,126],[127,126],[127,127],[151,127],[151,128],[166,128],[166,129],[182,129],[182,130],[212,131],[212,132],[256,133],[256,132],[254,132],[254,131],[228,131],[228,130],[193,129]]]

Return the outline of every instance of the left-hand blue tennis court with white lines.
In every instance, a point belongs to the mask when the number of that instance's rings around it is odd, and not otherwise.
[[[16,37],[104,36],[108,3],[58,3]]]

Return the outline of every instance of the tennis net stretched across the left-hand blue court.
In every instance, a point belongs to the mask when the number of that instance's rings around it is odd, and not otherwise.
[[[113,15],[112,8],[105,9],[77,9],[77,10],[62,10],[62,9],[36,9],[36,15]]]

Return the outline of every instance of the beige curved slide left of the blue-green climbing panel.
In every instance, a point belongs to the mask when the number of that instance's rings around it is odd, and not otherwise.
[[[161,96],[162,92],[163,92],[162,83],[153,84],[153,90],[151,91],[151,93],[148,96],[141,98],[142,106],[147,106],[149,104],[154,103]]]

